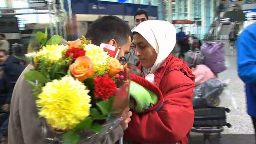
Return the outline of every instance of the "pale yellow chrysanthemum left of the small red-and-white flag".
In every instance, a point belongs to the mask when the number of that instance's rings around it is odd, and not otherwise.
[[[103,48],[99,48],[97,45],[89,44],[84,46],[85,56],[89,57],[93,62],[95,76],[105,75],[110,62],[108,52],[105,52]]]

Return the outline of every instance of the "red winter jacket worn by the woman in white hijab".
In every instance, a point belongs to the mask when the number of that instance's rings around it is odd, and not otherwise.
[[[142,68],[140,62],[137,66]],[[143,114],[133,111],[123,138],[135,143],[188,144],[194,122],[192,97],[195,76],[184,61],[172,57],[172,54],[154,74],[164,102],[158,111]]]

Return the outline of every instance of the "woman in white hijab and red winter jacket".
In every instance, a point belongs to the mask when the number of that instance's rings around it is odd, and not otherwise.
[[[124,140],[187,144],[194,120],[195,77],[185,62],[172,57],[176,44],[175,27],[168,21],[142,22],[133,31],[133,43],[139,57],[137,67],[145,79],[160,89],[164,100],[160,107],[153,106],[148,113],[134,111]]]

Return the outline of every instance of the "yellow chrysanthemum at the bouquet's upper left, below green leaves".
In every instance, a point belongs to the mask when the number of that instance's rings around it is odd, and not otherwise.
[[[39,52],[36,53],[36,57],[47,57],[50,62],[58,61],[62,59],[62,51],[67,49],[65,45],[46,45],[43,46]]]

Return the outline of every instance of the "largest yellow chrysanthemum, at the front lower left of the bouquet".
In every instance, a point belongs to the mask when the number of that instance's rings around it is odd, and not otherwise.
[[[54,129],[70,130],[90,115],[91,97],[86,86],[73,77],[48,82],[36,100],[39,116]]]

